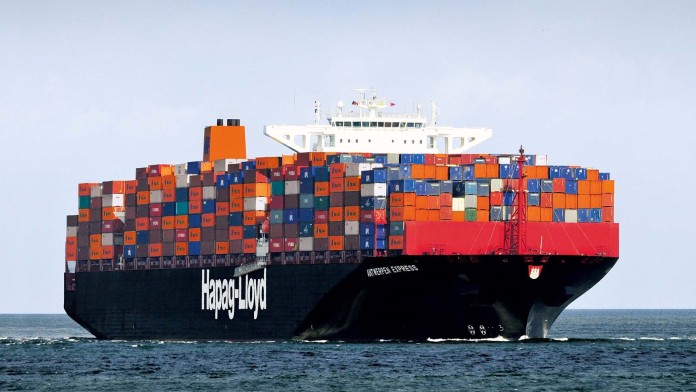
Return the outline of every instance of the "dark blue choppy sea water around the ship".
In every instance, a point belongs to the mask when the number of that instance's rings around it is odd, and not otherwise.
[[[0,390],[696,390],[696,310],[566,310],[548,339],[98,341],[0,315]]]

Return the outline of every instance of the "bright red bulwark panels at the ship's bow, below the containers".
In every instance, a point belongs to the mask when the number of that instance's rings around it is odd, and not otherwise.
[[[505,222],[406,222],[405,255],[508,253]],[[619,257],[618,223],[526,222],[522,254]]]

